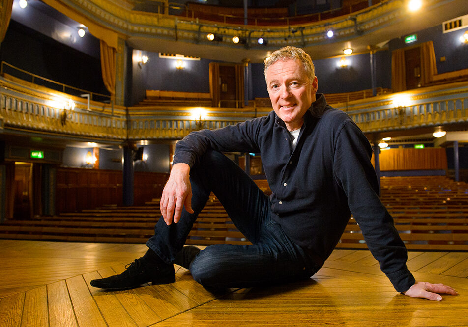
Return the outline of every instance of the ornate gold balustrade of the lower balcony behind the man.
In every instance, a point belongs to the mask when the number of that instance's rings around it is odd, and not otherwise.
[[[402,95],[409,102],[395,100]],[[194,130],[215,129],[244,121],[255,113],[255,108],[249,110],[249,107],[241,112],[235,108],[206,108],[205,120],[193,120],[187,107],[173,106],[170,110],[155,111],[142,106],[135,113],[129,110],[128,115],[122,108],[116,115],[110,110],[88,111],[83,109],[86,108],[83,103],[75,110],[57,109],[51,104],[53,100],[53,97],[47,99],[43,92],[34,92],[33,88],[15,89],[0,78],[0,120],[4,133],[12,129],[89,140],[180,139]],[[365,133],[466,123],[468,87],[461,82],[419,89],[412,94],[410,91],[386,94],[350,102],[339,109],[346,110]],[[264,115],[267,111],[257,114]]]

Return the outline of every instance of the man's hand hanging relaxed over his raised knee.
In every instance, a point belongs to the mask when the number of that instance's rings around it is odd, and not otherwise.
[[[182,209],[188,213],[192,210],[192,186],[190,184],[190,166],[188,164],[174,164],[169,179],[164,186],[159,208],[164,221],[169,226],[180,220]]]

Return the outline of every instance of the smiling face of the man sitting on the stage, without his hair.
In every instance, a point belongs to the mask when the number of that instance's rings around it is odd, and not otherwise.
[[[266,72],[266,86],[271,105],[289,131],[299,129],[303,116],[315,101],[317,77],[307,77],[302,64],[297,60],[278,60]]]

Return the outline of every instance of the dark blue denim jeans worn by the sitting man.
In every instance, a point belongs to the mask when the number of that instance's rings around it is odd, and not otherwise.
[[[192,209],[167,226],[159,219],[146,245],[171,263],[211,192],[223,204],[234,225],[253,245],[207,246],[190,265],[193,278],[206,288],[252,287],[307,279],[320,265],[271,219],[268,197],[232,160],[209,150],[190,171]],[[300,228],[300,226],[298,226]]]

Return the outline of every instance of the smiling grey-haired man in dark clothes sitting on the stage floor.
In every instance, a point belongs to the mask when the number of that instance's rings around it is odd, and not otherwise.
[[[273,111],[179,141],[148,251],[123,273],[91,285],[119,290],[171,283],[173,263],[189,268],[206,288],[307,279],[331,254],[352,213],[398,292],[431,300],[456,295],[449,286],[416,282],[408,270],[405,245],[379,199],[369,141],[346,113],[316,95],[310,56],[282,48],[265,60],[264,72]],[[260,153],[271,196],[220,151]],[[211,192],[253,245],[184,247]]]

